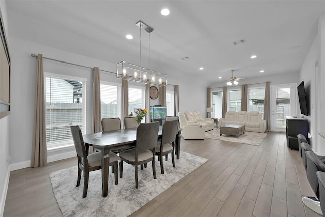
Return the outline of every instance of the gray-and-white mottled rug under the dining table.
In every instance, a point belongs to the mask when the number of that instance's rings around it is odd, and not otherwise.
[[[135,187],[134,166],[124,162],[123,178],[118,179],[118,185],[114,184],[110,167],[106,198],[102,197],[101,170],[89,173],[86,198],[82,198],[83,178],[80,186],[76,187],[77,166],[53,172],[50,179],[63,216],[128,216],[206,161],[205,158],[181,152],[180,159],[175,158],[174,168],[169,155],[168,161],[164,161],[164,175],[161,174],[160,163],[156,161],[157,179],[153,178],[151,163],[143,170],[139,166],[138,189]]]

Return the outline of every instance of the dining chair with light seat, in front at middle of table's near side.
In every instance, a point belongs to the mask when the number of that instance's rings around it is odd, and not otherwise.
[[[152,161],[153,178],[156,179],[155,151],[159,132],[159,121],[140,123],[137,128],[135,148],[121,152],[120,178],[123,177],[123,161],[134,165],[136,188],[138,188],[138,165]]]

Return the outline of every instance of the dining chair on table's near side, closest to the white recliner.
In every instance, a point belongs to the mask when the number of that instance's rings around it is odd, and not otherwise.
[[[172,153],[172,163],[175,167],[174,159],[174,144],[175,138],[178,132],[178,118],[175,120],[166,120],[163,126],[163,134],[161,141],[157,142],[156,155],[160,161],[161,174],[164,174],[164,160],[163,156],[167,161],[167,156],[169,153]]]

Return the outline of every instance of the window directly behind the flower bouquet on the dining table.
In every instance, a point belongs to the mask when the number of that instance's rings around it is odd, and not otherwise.
[[[145,89],[139,87],[128,87],[128,113],[134,115],[137,109],[145,108]]]

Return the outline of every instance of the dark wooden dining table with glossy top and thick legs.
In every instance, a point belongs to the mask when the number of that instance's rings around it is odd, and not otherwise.
[[[180,155],[180,131],[175,138],[175,154],[179,159]],[[163,126],[159,126],[158,140],[161,139],[163,134]],[[108,175],[109,175],[109,152],[114,150],[125,150],[132,148],[136,145],[137,128],[121,129],[100,133],[84,134],[83,140],[88,151],[89,146],[93,146],[102,153],[101,171],[102,171],[102,195],[107,197],[108,194]]]

